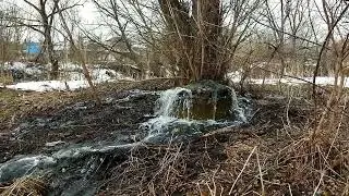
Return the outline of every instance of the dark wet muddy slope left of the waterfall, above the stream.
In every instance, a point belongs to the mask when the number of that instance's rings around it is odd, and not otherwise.
[[[44,111],[21,119],[12,131],[0,135],[0,162],[71,144],[136,142],[140,123],[152,118],[157,97],[141,90],[110,93],[101,106],[92,100],[76,102],[55,113]]]

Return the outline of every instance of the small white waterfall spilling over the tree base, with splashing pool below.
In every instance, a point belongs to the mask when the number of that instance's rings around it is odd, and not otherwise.
[[[193,91],[191,89],[177,87],[160,93],[155,107],[156,118],[142,124],[142,127],[148,132],[144,140],[163,143],[176,137],[182,139],[210,130],[246,123],[244,109],[239,107],[234,90],[231,90],[231,96],[232,105],[227,107],[231,108],[230,112],[234,119],[216,120],[218,93],[214,90],[212,119],[193,120]]]

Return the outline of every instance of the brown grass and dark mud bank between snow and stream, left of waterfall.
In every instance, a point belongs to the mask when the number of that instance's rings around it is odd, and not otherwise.
[[[0,163],[16,155],[53,151],[46,144],[55,142],[61,148],[136,139],[140,123],[154,113],[154,93],[172,86],[171,79],[104,84],[98,86],[101,106],[88,90],[38,94],[0,88]]]

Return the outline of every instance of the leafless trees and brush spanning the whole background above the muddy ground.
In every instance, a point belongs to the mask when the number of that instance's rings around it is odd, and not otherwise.
[[[57,78],[59,64],[80,62],[81,53],[86,63],[132,70],[137,78],[183,82],[224,79],[236,71],[242,79],[312,76],[315,70],[336,75],[347,66],[345,1],[92,0],[91,24],[79,15],[84,3],[2,2],[1,62],[50,63]],[[26,41],[39,42],[41,52],[27,57]]]

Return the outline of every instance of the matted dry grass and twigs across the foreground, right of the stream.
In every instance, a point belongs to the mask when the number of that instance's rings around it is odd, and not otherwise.
[[[311,145],[305,135],[242,138],[135,150],[111,170],[100,195],[349,194],[348,145],[338,143],[328,154],[328,146]]]

